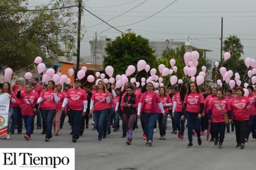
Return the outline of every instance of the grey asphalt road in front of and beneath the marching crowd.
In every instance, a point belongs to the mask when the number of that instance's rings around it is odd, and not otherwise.
[[[92,121],[92,120],[90,120]],[[139,123],[140,125],[140,123]],[[235,148],[235,133],[226,134],[223,148],[214,146],[213,142],[206,143],[206,136],[202,136],[203,144],[197,145],[194,137],[194,148],[186,148],[188,137],[178,140],[171,134],[171,123],[168,121],[166,140],[158,140],[159,130],[154,133],[153,145],[145,145],[142,139],[142,129],[134,131],[132,145],[126,145],[126,138],[121,138],[122,132],[112,132],[103,139],[103,143],[96,143],[97,132],[93,125],[85,130],[83,136],[73,143],[71,141],[70,126],[65,127],[59,136],[53,136],[50,142],[44,141],[41,130],[34,130],[32,140],[25,141],[24,132],[21,135],[11,135],[10,140],[0,140],[0,148],[75,148],[76,170],[83,169],[256,169],[256,141],[245,143],[244,150]]]

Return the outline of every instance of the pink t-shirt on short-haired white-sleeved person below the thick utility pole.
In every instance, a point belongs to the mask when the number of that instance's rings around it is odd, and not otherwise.
[[[65,98],[68,99],[68,107],[70,109],[83,110],[83,101],[87,101],[87,94],[81,88],[71,88],[66,92]]]

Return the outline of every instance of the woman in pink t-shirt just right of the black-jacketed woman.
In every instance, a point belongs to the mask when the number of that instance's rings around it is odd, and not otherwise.
[[[146,145],[152,146],[153,126],[158,119],[158,107],[164,117],[166,114],[158,94],[154,91],[153,84],[147,83],[146,89],[147,91],[140,97],[137,115],[139,119],[141,113],[141,119],[144,122],[144,133],[147,135]]]

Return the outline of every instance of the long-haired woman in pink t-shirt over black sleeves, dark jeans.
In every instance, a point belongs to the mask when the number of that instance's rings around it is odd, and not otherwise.
[[[188,143],[187,148],[193,147],[192,130],[196,130],[198,145],[202,145],[201,140],[201,117],[204,109],[204,96],[199,91],[198,84],[191,82],[188,87],[188,93],[184,99],[185,116],[188,124]],[[182,119],[182,118],[181,118]]]

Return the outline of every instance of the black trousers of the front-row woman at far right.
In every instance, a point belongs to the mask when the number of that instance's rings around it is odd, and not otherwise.
[[[249,120],[233,120],[235,125],[235,138],[237,141],[237,145],[241,145],[245,143],[245,132],[248,127]]]

